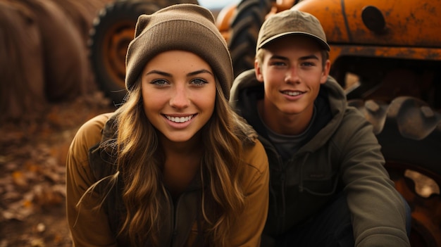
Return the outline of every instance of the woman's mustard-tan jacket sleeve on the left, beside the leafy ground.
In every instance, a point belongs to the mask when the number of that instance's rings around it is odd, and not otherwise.
[[[75,135],[66,160],[66,210],[74,246],[116,246],[108,217],[97,205],[96,193],[88,193],[77,206],[95,178],[89,167],[89,148],[101,140],[101,129],[112,113],[99,115],[86,122]]]

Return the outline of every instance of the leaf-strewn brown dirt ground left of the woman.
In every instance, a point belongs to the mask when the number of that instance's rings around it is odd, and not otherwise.
[[[0,125],[0,247],[71,246],[65,160],[83,122],[114,110],[100,92],[52,104],[34,122]]]

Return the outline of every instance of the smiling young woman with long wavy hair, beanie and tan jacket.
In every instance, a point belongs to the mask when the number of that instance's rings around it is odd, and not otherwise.
[[[228,106],[232,64],[211,12],[138,19],[127,101],[85,123],[67,160],[75,246],[259,246],[268,159]]]

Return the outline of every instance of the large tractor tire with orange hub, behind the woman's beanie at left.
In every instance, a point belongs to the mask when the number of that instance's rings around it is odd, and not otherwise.
[[[117,0],[107,4],[94,20],[89,35],[89,60],[99,89],[119,106],[125,89],[125,54],[135,36],[139,15],[172,4],[198,4],[197,0]]]

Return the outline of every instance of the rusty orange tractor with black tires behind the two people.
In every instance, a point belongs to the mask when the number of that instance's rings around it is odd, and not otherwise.
[[[91,34],[97,82],[123,99],[124,57],[137,16],[178,2],[116,1]],[[197,4],[197,1],[193,1]],[[386,168],[412,210],[412,246],[441,246],[441,0],[242,0],[216,12],[235,75],[254,67],[273,13],[315,15],[331,46],[330,75],[373,124]]]

